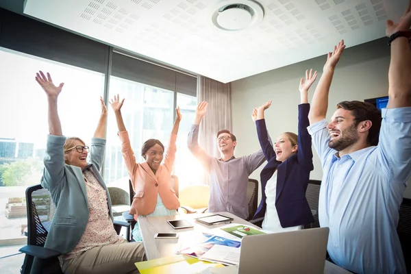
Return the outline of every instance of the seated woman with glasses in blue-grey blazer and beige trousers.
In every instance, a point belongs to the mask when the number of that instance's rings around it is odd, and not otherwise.
[[[107,124],[103,99],[88,163],[84,141],[62,134],[57,101],[64,84],[55,86],[50,74],[46,77],[41,71],[36,81],[46,92],[49,110],[50,134],[41,185],[49,190],[56,208],[45,247],[62,253],[63,273],[138,273],[134,263],[143,260],[144,247],[116,234],[110,196],[99,173]]]

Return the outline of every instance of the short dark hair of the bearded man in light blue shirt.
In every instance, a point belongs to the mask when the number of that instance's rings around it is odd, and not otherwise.
[[[372,125],[366,140],[370,145],[378,145],[378,134],[381,128],[382,117],[381,111],[375,105],[362,101],[342,101],[338,103],[337,108],[350,110],[354,116],[355,126],[362,121],[371,121]]]

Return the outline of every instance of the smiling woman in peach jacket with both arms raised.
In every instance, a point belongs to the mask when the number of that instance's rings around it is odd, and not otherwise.
[[[157,139],[149,139],[142,145],[141,155],[145,162],[136,162],[136,156],[130,144],[129,136],[121,116],[121,107],[124,99],[120,101],[119,95],[110,101],[116,114],[121,151],[125,160],[125,166],[132,180],[133,190],[136,192],[130,209],[134,219],[138,216],[168,216],[176,215],[179,208],[179,200],[171,186],[171,171],[175,158],[177,132],[182,115],[179,108],[176,109],[176,118],[171,132],[169,145],[164,154],[164,145]],[[162,160],[164,158],[164,163]],[[141,240],[138,223],[133,229],[133,239]]]

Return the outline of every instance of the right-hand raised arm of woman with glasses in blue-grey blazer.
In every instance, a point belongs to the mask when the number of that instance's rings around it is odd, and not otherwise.
[[[107,108],[103,101],[103,97],[100,97],[101,114],[97,129],[93,138],[91,139],[90,160],[101,171],[104,161],[105,153],[105,129],[107,127]]]

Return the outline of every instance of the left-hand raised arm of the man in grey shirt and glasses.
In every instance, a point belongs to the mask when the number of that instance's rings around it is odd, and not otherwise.
[[[199,146],[199,125],[203,117],[207,113],[207,105],[206,101],[202,101],[197,105],[195,110],[195,119],[194,124],[191,126],[190,132],[188,132],[187,138],[187,146],[188,149],[191,151],[192,155],[197,158],[201,164],[203,164],[204,169],[206,171],[210,171],[211,166],[211,156],[206,153],[201,147]]]

